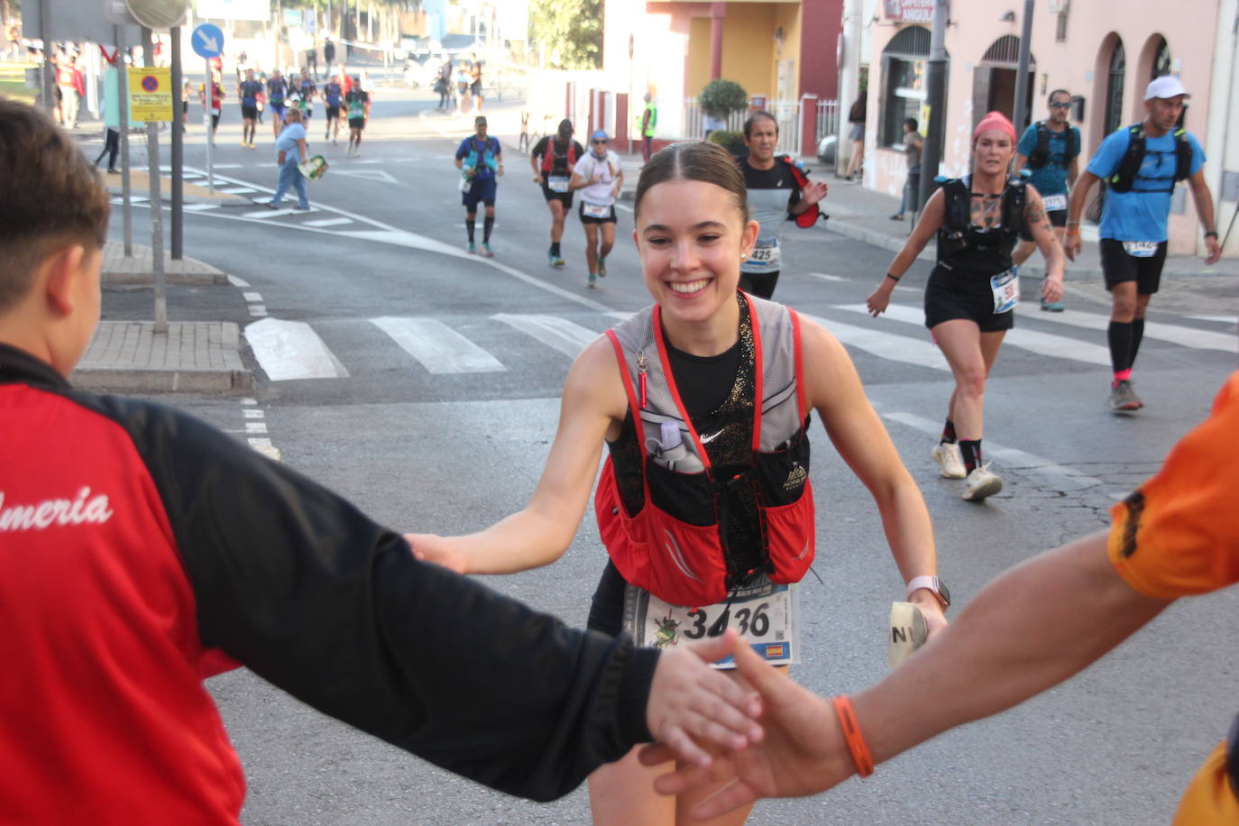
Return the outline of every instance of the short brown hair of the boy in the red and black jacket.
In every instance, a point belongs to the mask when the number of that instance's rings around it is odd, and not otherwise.
[[[0,98],[0,313],[26,296],[35,269],[58,246],[103,246],[110,212],[77,144],[42,110]]]

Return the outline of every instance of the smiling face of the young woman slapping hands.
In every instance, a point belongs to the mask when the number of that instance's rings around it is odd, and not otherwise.
[[[735,337],[741,255],[752,250],[757,229],[736,196],[715,183],[673,178],[644,192],[633,239],[669,332],[689,324]]]

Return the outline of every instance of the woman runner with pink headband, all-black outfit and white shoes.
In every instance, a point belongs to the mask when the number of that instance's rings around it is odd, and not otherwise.
[[[1011,250],[1025,225],[1046,256],[1042,297],[1063,296],[1063,249],[1041,204],[1041,194],[1011,177],[1015,126],[1001,113],[985,115],[973,133],[973,173],[947,181],[929,197],[917,228],[895,256],[866,305],[875,317],[891,302],[895,284],[938,234],[938,265],[926,285],[926,327],[942,348],[955,390],[947,425],[932,456],[949,479],[964,479],[964,499],[981,502],[1002,479],[981,459],[985,379],[1006,331],[1015,324],[1020,280]]]

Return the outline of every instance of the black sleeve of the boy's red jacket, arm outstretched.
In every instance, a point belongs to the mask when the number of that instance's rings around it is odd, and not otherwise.
[[[187,415],[104,398],[218,646],[315,708],[493,789],[551,800],[649,739],[657,653],[566,628]]]

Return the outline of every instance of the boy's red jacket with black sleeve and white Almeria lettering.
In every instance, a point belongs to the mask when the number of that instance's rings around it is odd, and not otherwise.
[[[188,415],[0,346],[0,822],[235,822],[202,679],[237,664],[535,800],[649,739],[657,653],[418,562]]]

